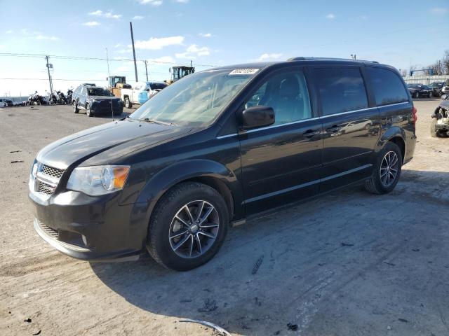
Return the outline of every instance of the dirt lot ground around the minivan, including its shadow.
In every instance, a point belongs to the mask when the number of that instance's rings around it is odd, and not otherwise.
[[[449,335],[449,139],[429,135],[437,104],[415,102],[415,158],[393,193],[350,188],[241,225],[185,273],[149,257],[89,264],[40,239],[27,200],[34,155],[109,120],[0,109],[0,333],[214,334],[177,322],[194,318],[233,335]]]

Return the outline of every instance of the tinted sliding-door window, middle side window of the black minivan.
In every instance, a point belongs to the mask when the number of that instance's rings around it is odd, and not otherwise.
[[[323,116],[368,108],[360,69],[326,68],[314,73]]]

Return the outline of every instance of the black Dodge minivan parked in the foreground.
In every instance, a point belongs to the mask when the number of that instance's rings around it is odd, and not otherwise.
[[[128,118],[43,148],[34,228],[83,260],[177,270],[213,258],[229,224],[353,183],[394,189],[416,109],[398,71],[296,57],[192,73]]]

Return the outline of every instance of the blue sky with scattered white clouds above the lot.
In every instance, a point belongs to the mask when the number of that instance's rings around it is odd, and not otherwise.
[[[107,57],[109,73],[133,84],[129,22],[139,80],[146,80],[144,59],[149,80],[164,80],[170,66],[191,60],[199,71],[355,54],[420,69],[449,49],[449,0],[0,0],[0,11],[0,96],[49,91],[43,55],[55,90],[105,86]]]

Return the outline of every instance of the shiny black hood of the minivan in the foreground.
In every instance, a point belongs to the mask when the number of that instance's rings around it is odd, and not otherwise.
[[[192,129],[127,118],[92,127],[55,141],[44,147],[36,160],[51,167],[67,169],[74,162],[82,162],[98,155],[101,156],[101,160],[95,164],[106,165],[110,163],[109,161],[130,152],[180,137],[190,130]]]

